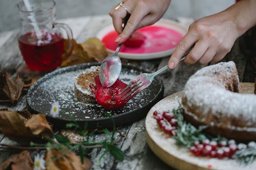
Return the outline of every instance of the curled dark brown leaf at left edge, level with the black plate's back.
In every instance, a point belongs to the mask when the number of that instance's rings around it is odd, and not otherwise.
[[[18,76],[13,81],[5,71],[0,71],[0,101],[10,101],[16,103],[22,94],[24,82]]]

